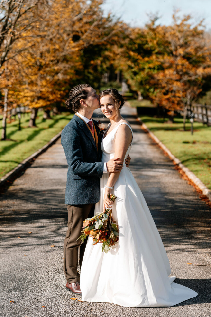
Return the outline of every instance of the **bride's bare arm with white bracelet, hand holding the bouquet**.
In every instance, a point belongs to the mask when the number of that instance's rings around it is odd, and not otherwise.
[[[131,141],[132,141],[132,132],[129,126],[127,126],[126,124],[122,124],[121,126],[119,126],[116,132],[116,137],[115,137],[115,157],[117,157],[121,162],[124,162],[124,158]],[[119,175],[120,175],[120,172],[109,173],[107,186],[114,187]],[[108,193],[110,192],[112,192],[112,190],[106,187],[104,200],[103,200],[103,210],[104,208],[111,208],[111,202],[108,199]]]

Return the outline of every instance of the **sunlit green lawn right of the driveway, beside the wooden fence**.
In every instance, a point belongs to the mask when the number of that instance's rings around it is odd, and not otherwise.
[[[171,153],[211,189],[211,127],[194,122],[191,135],[190,123],[186,124],[187,131],[183,131],[182,118],[175,118],[173,124],[163,118],[140,118]]]

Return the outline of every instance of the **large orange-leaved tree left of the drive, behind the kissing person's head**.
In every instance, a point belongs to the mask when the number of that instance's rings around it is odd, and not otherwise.
[[[101,4],[54,0],[34,8],[35,27],[25,33],[33,37],[33,45],[16,58],[24,78],[16,98],[32,108],[30,126],[35,125],[38,108],[65,101],[70,86],[99,76],[98,48],[105,47],[118,29],[110,16],[103,17]],[[18,43],[26,44],[25,38]]]

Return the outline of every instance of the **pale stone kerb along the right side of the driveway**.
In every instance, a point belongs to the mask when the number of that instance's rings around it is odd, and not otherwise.
[[[207,188],[207,186],[202,183],[202,181],[195,176],[193,172],[191,172],[182,162],[177,159],[171,151],[150,131],[150,129],[146,126],[145,123],[140,118],[137,118],[140,122],[142,128],[147,131],[150,137],[163,149],[164,152],[168,154],[170,159],[176,163],[185,173],[185,175],[202,191],[203,195],[207,196],[209,201],[211,202],[211,191]]]

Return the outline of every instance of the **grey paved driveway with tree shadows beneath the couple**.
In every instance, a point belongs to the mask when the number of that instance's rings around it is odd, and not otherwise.
[[[0,197],[0,316],[209,316],[210,210],[180,177],[170,159],[140,129],[133,109],[125,107],[122,111],[134,131],[131,171],[164,242],[172,275],[177,276],[176,282],[199,295],[166,308],[126,308],[70,299],[74,295],[66,292],[62,271],[67,164],[58,140]]]

